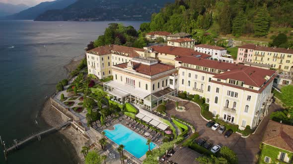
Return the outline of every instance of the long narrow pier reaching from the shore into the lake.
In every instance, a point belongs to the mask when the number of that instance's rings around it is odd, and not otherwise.
[[[27,136],[27,137],[25,137],[25,138],[23,138],[21,140],[14,139],[13,140],[13,146],[8,147],[8,148],[6,148],[4,141],[1,140],[1,136],[0,136],[1,145],[4,147],[5,160],[7,159],[7,155],[8,155],[9,152],[11,152],[13,150],[18,150],[19,147],[21,145],[23,145],[24,143],[26,143],[26,142],[34,139],[34,138],[37,138],[38,140],[41,140],[41,135],[42,134],[46,134],[46,133],[52,132],[54,130],[59,130],[62,127],[66,127],[66,126],[70,125],[70,123],[71,123],[71,121],[68,121],[68,122],[65,122],[65,123],[61,123],[58,126],[50,127],[50,128],[45,129],[45,130],[36,132],[36,133],[34,133],[32,135],[29,135],[29,136]]]

